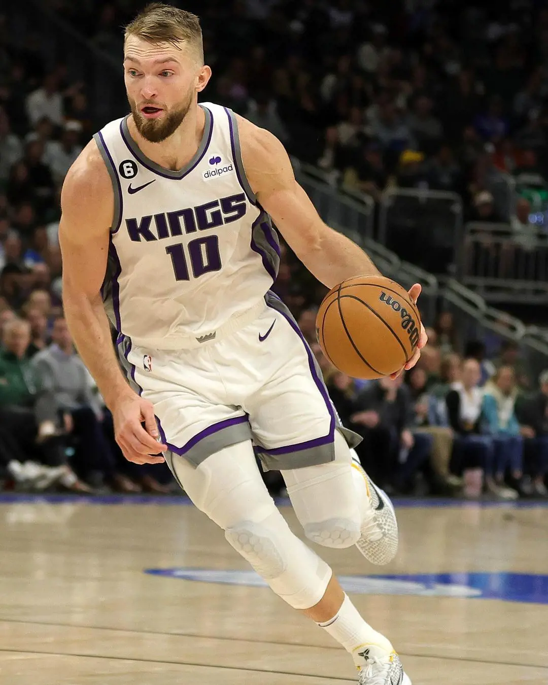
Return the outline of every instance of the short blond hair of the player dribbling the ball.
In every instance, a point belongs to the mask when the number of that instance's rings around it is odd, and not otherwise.
[[[203,64],[203,40],[200,20],[195,14],[179,10],[172,5],[153,2],[125,27],[124,41],[129,36],[142,38],[149,43],[171,42],[175,47],[186,43]]]

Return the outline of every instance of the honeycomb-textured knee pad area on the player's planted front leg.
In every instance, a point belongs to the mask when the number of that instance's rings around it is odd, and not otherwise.
[[[225,538],[264,580],[273,580],[286,570],[282,543],[268,525],[242,521],[227,528]]]

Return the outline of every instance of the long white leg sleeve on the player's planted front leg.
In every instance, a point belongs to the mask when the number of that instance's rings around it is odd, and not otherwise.
[[[197,468],[173,455],[173,469],[197,508],[279,597],[295,609],[321,600],[332,571],[290,531],[262,482],[251,442],[225,447]]]

